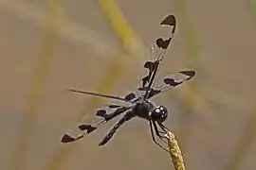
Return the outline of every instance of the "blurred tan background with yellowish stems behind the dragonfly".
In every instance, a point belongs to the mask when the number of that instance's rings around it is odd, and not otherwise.
[[[159,76],[197,74],[154,101],[170,111],[186,169],[254,170],[254,0],[1,0],[0,169],[174,169],[139,119],[104,147],[115,121],[60,143],[83,114],[111,102],[65,89],[129,92],[169,14],[177,29]]]

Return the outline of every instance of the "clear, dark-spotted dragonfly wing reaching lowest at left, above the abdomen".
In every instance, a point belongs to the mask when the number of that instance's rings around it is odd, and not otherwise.
[[[130,108],[116,104],[102,106],[93,115],[88,114],[82,117],[81,122],[75,128],[68,130],[64,134],[62,143],[71,143],[82,139],[82,137],[127,110],[130,110]]]

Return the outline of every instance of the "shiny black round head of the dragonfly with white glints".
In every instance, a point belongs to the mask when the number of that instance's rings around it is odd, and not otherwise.
[[[151,118],[156,122],[162,123],[168,117],[168,110],[164,106],[157,106],[151,111]]]

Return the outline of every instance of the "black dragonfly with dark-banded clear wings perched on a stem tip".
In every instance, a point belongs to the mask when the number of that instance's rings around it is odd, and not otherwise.
[[[67,89],[69,92],[104,97],[117,100],[120,103],[128,105],[123,106],[121,104],[111,103],[109,105],[102,106],[93,114],[95,118],[98,118],[95,123],[90,123],[86,119],[85,115],[82,118],[82,121],[75,128],[64,133],[61,140],[62,143],[66,144],[76,142],[110,120],[121,116],[119,121],[115,123],[114,127],[109,130],[99,144],[100,146],[105,145],[113,138],[119,127],[121,127],[125,122],[138,117],[148,121],[153,142],[160,148],[169,152],[166,148],[167,142],[165,141],[165,134],[170,131],[170,129],[163,124],[168,118],[168,109],[165,106],[155,106],[151,99],[157,94],[163,93],[169,89],[179,86],[187,80],[190,80],[195,76],[195,71],[179,71],[175,74],[165,76],[157,85],[155,85],[155,77],[158,73],[160,64],[164,59],[165,53],[172,39],[174,38],[176,28],[176,19],[174,15],[170,14],[166,16],[160,23],[160,26],[167,26],[168,34],[166,37],[159,37],[156,39],[155,46],[152,47],[154,49],[153,59],[149,59],[144,62],[144,69],[148,70],[148,73],[146,76],[141,78],[141,84],[137,86],[136,90],[126,93],[124,96],[116,96],[103,93],[85,92],[77,89]]]

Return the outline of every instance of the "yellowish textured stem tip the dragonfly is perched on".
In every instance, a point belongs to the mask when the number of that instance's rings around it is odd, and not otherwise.
[[[174,163],[175,170],[185,170],[182,152],[181,152],[178,142],[174,136],[174,133],[172,131],[169,131],[166,134],[166,137],[168,139],[170,156]]]

